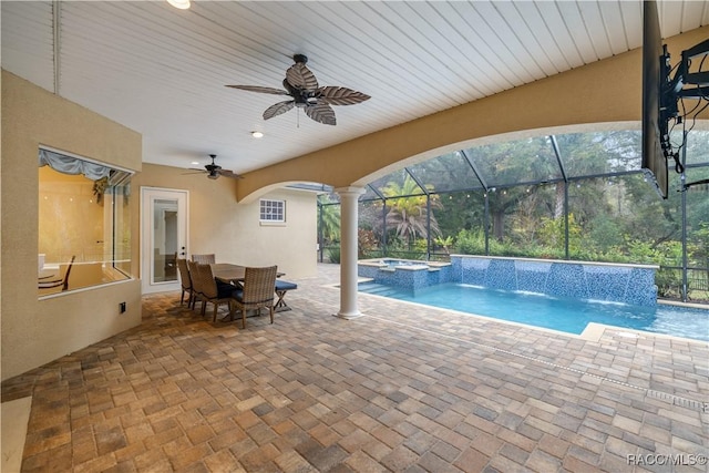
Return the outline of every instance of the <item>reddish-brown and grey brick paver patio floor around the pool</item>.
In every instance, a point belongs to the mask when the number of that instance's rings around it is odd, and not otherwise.
[[[21,471],[707,471],[709,343],[369,295],[343,320],[338,266],[294,281],[246,330],[145,296],[140,327],[3,382],[31,397]]]

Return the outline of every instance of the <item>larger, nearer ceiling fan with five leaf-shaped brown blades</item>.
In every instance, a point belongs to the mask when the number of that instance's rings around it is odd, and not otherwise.
[[[335,111],[330,105],[353,105],[370,99],[369,95],[348,88],[319,86],[315,74],[306,68],[308,58],[304,54],[296,54],[292,59],[296,63],[286,71],[285,90],[260,85],[227,85],[227,88],[274,95],[290,95],[290,100],[278,102],[266,109],[264,120],[273,119],[297,106],[302,109],[310,119],[326,125],[337,124]]]

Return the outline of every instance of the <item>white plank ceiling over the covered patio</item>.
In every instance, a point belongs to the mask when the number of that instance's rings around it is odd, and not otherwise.
[[[2,68],[143,134],[143,161],[207,155],[237,173],[391,127],[641,45],[641,1],[2,1]],[[659,2],[664,37],[707,1]],[[323,125],[281,88],[306,54],[320,85],[371,95]],[[255,140],[251,131],[265,137]]]

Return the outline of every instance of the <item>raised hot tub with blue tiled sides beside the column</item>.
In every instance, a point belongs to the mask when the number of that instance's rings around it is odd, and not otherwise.
[[[442,282],[451,282],[451,264],[413,259],[361,259],[357,274],[378,284],[414,291]]]

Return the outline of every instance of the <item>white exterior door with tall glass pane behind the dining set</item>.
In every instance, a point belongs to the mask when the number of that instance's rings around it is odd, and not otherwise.
[[[187,191],[141,188],[143,294],[179,290],[175,258],[187,255]]]

